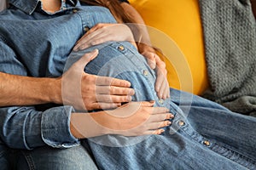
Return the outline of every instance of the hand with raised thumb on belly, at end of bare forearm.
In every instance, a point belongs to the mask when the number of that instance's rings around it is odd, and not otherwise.
[[[84,67],[95,59],[98,50],[94,50],[79,59],[63,74],[62,101],[64,105],[73,105],[80,111],[113,109],[122,102],[131,101],[135,92],[131,83],[112,77],[98,77],[84,72]]]

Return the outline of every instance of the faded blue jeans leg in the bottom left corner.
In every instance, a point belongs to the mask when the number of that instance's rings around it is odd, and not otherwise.
[[[0,144],[1,170],[97,169],[82,145],[60,150],[50,146],[34,150],[13,150]]]

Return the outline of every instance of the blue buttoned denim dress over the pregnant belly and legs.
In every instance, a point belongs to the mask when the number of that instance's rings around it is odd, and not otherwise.
[[[99,48],[100,54],[86,66],[86,72],[128,80],[136,90],[134,100],[154,99],[157,106],[166,106],[175,115],[162,135],[89,139],[85,145],[90,145],[100,169],[256,168],[255,117],[175,89],[171,89],[171,99],[160,102],[154,92],[154,71],[128,42],[109,42],[72,53],[67,68],[93,48]]]

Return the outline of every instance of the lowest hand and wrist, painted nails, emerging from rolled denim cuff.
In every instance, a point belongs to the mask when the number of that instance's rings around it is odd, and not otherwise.
[[[141,136],[160,134],[162,127],[171,125],[173,115],[164,107],[153,107],[154,102],[131,102],[112,111],[89,114],[73,113],[71,132],[77,138],[103,134]]]

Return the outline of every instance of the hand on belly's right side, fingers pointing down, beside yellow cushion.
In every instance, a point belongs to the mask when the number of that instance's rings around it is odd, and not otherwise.
[[[160,56],[155,53],[154,48],[139,43],[138,49],[143,56],[148,59],[148,65],[156,71],[156,82],[154,85],[155,91],[160,99],[170,98],[170,88],[167,81],[166,63],[160,59]]]

